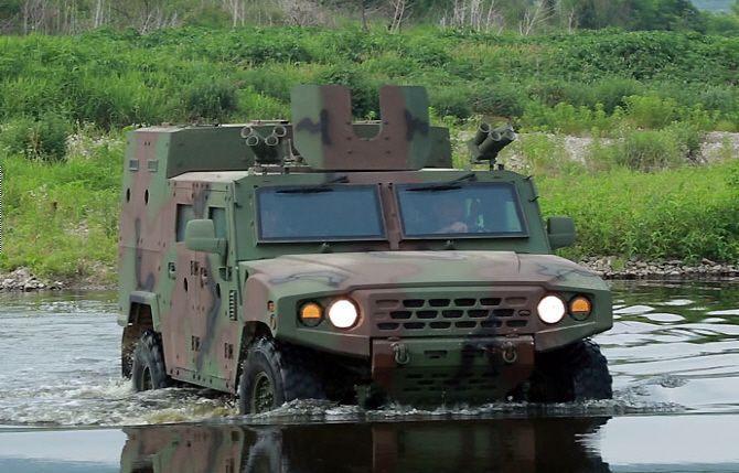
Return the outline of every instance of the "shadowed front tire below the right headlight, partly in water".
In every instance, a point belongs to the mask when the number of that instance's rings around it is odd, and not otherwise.
[[[611,399],[612,384],[600,347],[585,340],[537,356],[527,398],[534,402]]]

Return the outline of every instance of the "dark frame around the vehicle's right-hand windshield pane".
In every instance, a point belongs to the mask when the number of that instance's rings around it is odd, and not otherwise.
[[[439,190],[431,190],[432,187],[438,186]],[[406,192],[408,189],[414,187],[425,187],[425,191],[418,191],[419,193],[443,193],[449,190],[456,189],[465,189],[465,187],[507,187],[511,191],[513,196],[513,204],[515,206],[515,214],[518,217],[521,223],[521,232],[456,232],[456,233],[430,233],[430,234],[420,234],[411,233],[408,234],[406,229],[406,221],[404,217],[404,206],[401,204],[401,193]],[[413,239],[471,239],[471,238],[495,238],[495,239],[510,239],[510,238],[528,238],[531,235],[528,233],[528,225],[526,224],[526,214],[521,204],[521,195],[518,195],[518,189],[513,182],[508,181],[484,181],[484,182],[422,182],[422,183],[398,183],[395,186],[395,202],[398,208],[398,223],[400,234],[403,239],[413,240]],[[413,191],[411,191],[413,192]]]

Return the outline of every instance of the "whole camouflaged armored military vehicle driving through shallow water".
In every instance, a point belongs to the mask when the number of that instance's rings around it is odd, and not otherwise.
[[[328,398],[376,406],[611,397],[588,340],[612,325],[595,273],[551,255],[531,176],[480,126],[453,169],[422,87],[292,90],[292,122],[162,126],[127,138],[122,373],[237,394],[242,412]],[[476,169],[481,168],[481,169]]]

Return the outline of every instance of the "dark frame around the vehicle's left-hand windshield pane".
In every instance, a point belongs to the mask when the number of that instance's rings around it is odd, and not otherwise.
[[[266,193],[280,193],[280,191],[292,194],[300,195],[301,191],[304,191],[306,195],[320,194],[319,190],[325,187],[330,192],[349,192],[356,190],[372,190],[373,198],[375,202],[375,208],[377,209],[376,218],[378,219],[378,227],[381,233],[378,235],[360,235],[360,236],[277,236],[277,237],[264,237],[263,236],[263,214],[261,214],[261,198],[263,194]],[[325,191],[323,191],[325,192]],[[256,222],[256,240],[257,243],[315,243],[315,241],[387,241],[387,224],[385,222],[385,212],[383,208],[383,201],[379,195],[379,184],[297,184],[297,185],[257,185],[255,186],[255,222]],[[368,213],[368,211],[367,211]]]

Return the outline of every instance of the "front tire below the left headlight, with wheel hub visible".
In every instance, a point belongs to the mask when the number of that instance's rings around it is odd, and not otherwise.
[[[274,338],[249,348],[238,384],[242,413],[261,413],[293,399],[325,399],[311,353]]]

